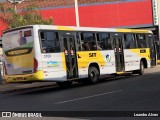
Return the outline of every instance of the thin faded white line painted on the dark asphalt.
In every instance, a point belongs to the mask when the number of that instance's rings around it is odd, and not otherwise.
[[[61,101],[61,102],[57,102],[57,103],[54,103],[54,104],[63,104],[63,103],[67,103],[67,102],[73,102],[73,101],[93,98],[93,97],[107,95],[107,94],[113,94],[113,93],[122,92],[122,91],[123,90],[117,90],[117,91],[112,91],[112,92],[107,92],[107,93],[102,93],[102,94],[97,94],[97,95],[92,95],[92,96],[87,96],[87,97],[82,97],[82,98],[77,98],[77,99],[72,99],[72,100]]]

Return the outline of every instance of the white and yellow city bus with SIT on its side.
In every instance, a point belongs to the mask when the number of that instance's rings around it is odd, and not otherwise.
[[[5,31],[2,43],[6,82],[96,83],[156,64],[149,30],[31,25]]]

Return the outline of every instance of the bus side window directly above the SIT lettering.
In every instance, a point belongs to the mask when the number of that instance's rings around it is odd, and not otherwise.
[[[97,50],[95,34],[91,32],[81,33],[82,50]]]

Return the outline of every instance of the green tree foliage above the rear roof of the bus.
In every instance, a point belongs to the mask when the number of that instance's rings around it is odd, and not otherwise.
[[[12,8],[5,9],[1,4],[0,11],[3,13],[3,16],[0,16],[0,20],[7,23],[9,28],[33,24],[53,24],[53,19],[44,19],[38,7],[34,5],[27,6],[22,12],[16,12]]]

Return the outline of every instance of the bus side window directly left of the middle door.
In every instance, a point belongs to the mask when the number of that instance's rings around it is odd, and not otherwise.
[[[112,50],[109,33],[98,33],[97,42],[101,50]]]

